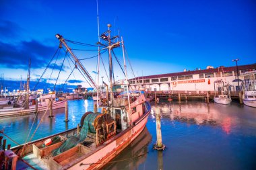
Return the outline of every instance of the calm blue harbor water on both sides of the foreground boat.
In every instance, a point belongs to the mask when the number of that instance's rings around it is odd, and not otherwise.
[[[256,108],[239,105],[203,103],[202,101],[160,101],[162,142],[165,151],[155,151],[155,105],[145,130],[132,144],[104,169],[255,169]],[[31,134],[40,124],[32,140],[75,128],[81,116],[93,110],[90,99],[69,101],[69,122],[65,110],[55,117],[38,114]],[[1,118],[0,130],[18,143],[26,141],[35,116]],[[30,135],[31,136],[31,135]],[[28,138],[29,139],[29,138]],[[27,140],[28,141],[28,140]],[[7,139],[7,144],[16,144]]]

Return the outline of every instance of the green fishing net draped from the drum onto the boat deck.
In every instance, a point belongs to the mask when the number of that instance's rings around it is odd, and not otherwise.
[[[88,114],[84,119],[84,125],[79,135],[71,136],[70,138],[65,140],[65,142],[59,148],[53,151],[53,156],[59,155],[60,153],[63,153],[69,150],[70,148],[73,148],[77,144],[83,142],[86,139],[88,132],[96,133],[96,130],[94,128],[94,120],[96,116],[98,116],[98,113]]]

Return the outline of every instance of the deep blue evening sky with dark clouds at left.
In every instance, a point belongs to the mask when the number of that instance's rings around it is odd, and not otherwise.
[[[120,32],[135,76],[205,69],[208,65],[228,67],[235,65],[231,61],[234,58],[240,59],[238,65],[256,62],[256,2],[253,0],[98,0],[98,9],[100,32],[106,31],[106,24],[112,24],[111,34]],[[5,79],[25,78],[28,58],[32,58],[32,79],[40,77],[59,46],[57,33],[69,40],[96,44],[96,0],[2,0],[0,73],[4,73]],[[121,48],[117,50],[122,61]],[[78,58],[87,58],[96,52],[77,51],[76,54]],[[59,67],[63,56],[60,54],[57,60]],[[115,77],[123,78],[117,62],[114,63]],[[61,81],[71,72],[69,64],[65,64]],[[95,77],[96,58],[84,60],[84,65]],[[100,75],[107,81],[106,75],[102,75],[102,65],[100,68]],[[57,74],[53,72],[55,77]],[[44,78],[49,75],[50,70]],[[129,78],[132,77],[129,71]],[[69,82],[72,80],[84,81],[84,78],[76,71]]]

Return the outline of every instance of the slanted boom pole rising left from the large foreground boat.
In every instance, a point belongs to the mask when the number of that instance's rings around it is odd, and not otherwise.
[[[74,58],[75,63],[77,63],[78,67],[80,69],[82,69],[82,71],[84,72],[84,74],[86,75],[87,79],[89,79],[90,83],[92,83],[93,87],[98,91],[98,85],[96,85],[96,83],[94,82],[94,80],[92,79],[91,75],[88,73],[88,71],[86,71],[86,68],[84,68],[84,66],[82,65],[82,63],[78,60],[77,56],[75,56],[75,54],[73,54],[73,52],[71,51],[71,49],[69,48],[69,46],[67,46],[67,43],[65,42],[65,39],[63,38],[63,36],[61,36],[60,34],[56,34],[55,35],[56,38],[59,39],[59,41],[67,48],[67,51],[71,54],[71,56]]]

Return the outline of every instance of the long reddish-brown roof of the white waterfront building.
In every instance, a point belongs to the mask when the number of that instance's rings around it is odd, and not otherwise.
[[[238,66],[238,70],[250,70],[256,69],[256,64],[253,65],[241,65]],[[218,67],[216,69],[205,69],[205,70],[197,70],[197,71],[185,71],[179,73],[167,73],[162,75],[148,75],[143,77],[136,77],[136,79],[154,79],[154,78],[164,78],[164,77],[174,77],[174,76],[181,76],[181,75],[196,75],[196,74],[203,74],[203,73],[218,73],[218,72],[228,72],[228,71],[236,71],[236,66],[234,67]],[[134,80],[129,79],[129,80]]]

